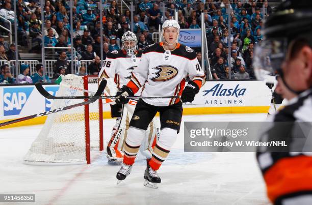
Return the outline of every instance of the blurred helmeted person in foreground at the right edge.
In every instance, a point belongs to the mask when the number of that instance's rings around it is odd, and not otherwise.
[[[289,102],[271,116],[261,140],[292,137],[281,151],[258,149],[257,160],[271,202],[312,204],[312,2],[283,2],[266,21],[264,36],[254,55],[255,73],[258,79],[278,75],[275,91]]]

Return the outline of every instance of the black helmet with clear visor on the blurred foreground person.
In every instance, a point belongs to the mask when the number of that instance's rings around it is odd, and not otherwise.
[[[282,3],[264,25],[264,39],[256,45],[253,68],[258,80],[273,83],[280,76],[285,86],[281,65],[296,55],[298,44],[312,47],[312,2],[288,0]]]

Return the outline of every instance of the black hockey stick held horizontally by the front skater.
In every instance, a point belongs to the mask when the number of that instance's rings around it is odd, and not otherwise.
[[[38,92],[45,98],[47,99],[86,99],[86,98],[93,98],[95,96],[53,96],[49,94],[42,86],[40,82],[37,82],[35,84]],[[110,99],[117,99],[118,97],[115,96],[97,96],[97,98],[110,98]],[[155,98],[180,98],[180,96],[132,96],[132,97],[127,97],[128,99],[140,99],[140,98],[149,98],[149,99],[155,99]]]

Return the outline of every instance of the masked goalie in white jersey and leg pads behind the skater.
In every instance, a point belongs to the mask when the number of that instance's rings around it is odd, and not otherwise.
[[[116,90],[127,84],[132,76],[132,71],[138,66],[142,54],[136,50],[137,37],[134,33],[125,32],[121,41],[123,49],[109,52],[99,73],[99,80],[105,78],[108,81],[106,90],[111,96],[116,95]],[[123,106],[120,103],[111,105],[111,116],[117,119],[106,149],[108,163],[120,164],[123,160],[124,135],[136,104],[137,101],[131,100]],[[153,120],[145,132],[146,137],[143,139],[144,145],[141,148],[142,154],[147,158],[151,158],[151,152],[157,139],[155,136],[159,135],[159,131],[159,123],[157,120]]]

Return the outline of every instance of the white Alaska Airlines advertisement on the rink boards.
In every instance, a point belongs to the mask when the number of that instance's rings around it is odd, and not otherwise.
[[[264,81],[207,81],[187,107],[270,106],[271,97]]]

